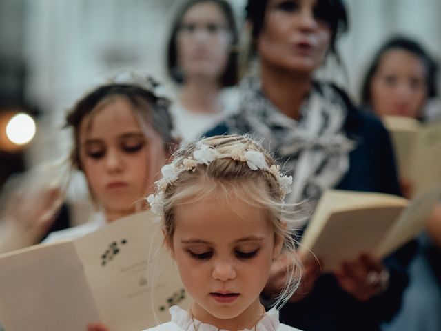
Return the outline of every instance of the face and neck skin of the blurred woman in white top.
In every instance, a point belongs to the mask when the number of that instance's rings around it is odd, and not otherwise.
[[[216,3],[196,3],[185,13],[176,36],[178,64],[185,75],[181,103],[198,113],[220,112],[220,77],[227,67],[231,33]]]

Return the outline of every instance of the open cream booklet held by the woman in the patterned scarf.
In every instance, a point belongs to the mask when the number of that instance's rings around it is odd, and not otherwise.
[[[300,241],[299,254],[317,257],[322,272],[362,253],[385,257],[424,228],[441,188],[408,201],[391,194],[327,190]]]

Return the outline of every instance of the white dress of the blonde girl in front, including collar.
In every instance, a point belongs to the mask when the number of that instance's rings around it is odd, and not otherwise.
[[[196,325],[196,330],[194,330],[193,319],[192,316],[182,308],[174,305],[169,309],[170,314],[172,315],[172,321],[168,323],[163,323],[161,325],[155,326],[154,328],[149,328],[144,331],[225,331],[218,330],[214,325],[209,325],[205,323],[201,323],[197,319],[194,320],[194,324]],[[291,326],[280,323],[278,320],[278,310],[272,308],[269,310],[265,316],[260,319],[260,321],[256,325],[256,331],[300,331],[296,328],[292,328]],[[245,329],[243,331],[254,331]]]

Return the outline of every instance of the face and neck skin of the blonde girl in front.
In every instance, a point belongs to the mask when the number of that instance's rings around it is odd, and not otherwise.
[[[217,328],[252,329],[263,316],[259,295],[282,243],[265,210],[216,190],[176,206],[175,226],[166,242],[194,298],[190,313]]]

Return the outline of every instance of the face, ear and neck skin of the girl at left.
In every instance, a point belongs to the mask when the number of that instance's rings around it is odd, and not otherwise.
[[[106,103],[81,123],[81,166],[108,222],[143,207],[139,201],[154,181],[150,175],[152,148],[155,158],[162,160],[154,169],[155,174],[165,162],[161,138],[150,131],[152,137],[147,139],[132,106],[121,97]]]

